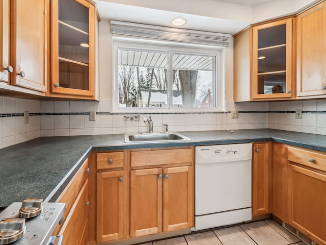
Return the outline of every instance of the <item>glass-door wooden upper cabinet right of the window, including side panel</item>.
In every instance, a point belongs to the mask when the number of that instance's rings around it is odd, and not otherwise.
[[[295,97],[295,18],[253,26],[234,35],[234,101]]]

